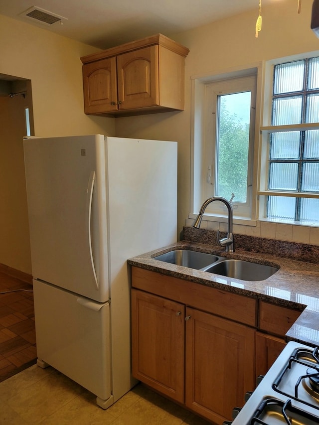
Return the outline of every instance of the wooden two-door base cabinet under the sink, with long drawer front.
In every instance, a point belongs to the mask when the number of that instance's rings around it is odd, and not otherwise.
[[[217,314],[254,326],[256,301],[135,267],[132,286],[133,376],[215,424],[231,420],[253,386],[255,329]]]

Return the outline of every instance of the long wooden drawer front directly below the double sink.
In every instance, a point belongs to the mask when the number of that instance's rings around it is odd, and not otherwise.
[[[256,326],[256,300],[132,267],[132,286],[218,316]]]

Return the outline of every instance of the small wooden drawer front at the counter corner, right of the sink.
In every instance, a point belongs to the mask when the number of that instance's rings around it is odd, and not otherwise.
[[[293,308],[260,301],[259,328],[275,335],[285,336],[300,314],[301,311]]]

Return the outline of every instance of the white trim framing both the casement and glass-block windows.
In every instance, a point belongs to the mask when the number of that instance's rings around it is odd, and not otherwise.
[[[253,186],[252,186],[252,210],[251,218],[238,218],[234,211],[234,224],[242,224],[247,226],[256,226],[257,221],[266,221],[273,223],[298,224],[312,227],[319,225],[311,223],[291,222],[284,220],[274,220],[265,218],[264,211],[266,208],[266,199],[268,195],[273,193],[278,196],[278,192],[266,190],[268,179],[268,158],[269,143],[268,133],[273,131],[271,123],[272,108],[272,84],[273,84],[273,67],[274,65],[318,56],[318,50],[306,52],[293,56],[281,57],[273,60],[265,60],[250,65],[237,66],[230,69],[221,69],[200,75],[191,76],[191,151],[190,151],[190,205],[189,219],[196,218],[200,206],[207,199],[203,191],[201,181],[206,178],[206,167],[202,166],[204,161],[204,125],[205,125],[205,85],[213,81],[227,80],[240,76],[257,75],[256,90],[256,121],[255,121],[255,137],[254,137],[254,165],[253,165]],[[270,83],[271,82],[271,83]],[[289,129],[296,130],[313,130],[318,126],[312,124],[301,124],[289,126]],[[276,131],[286,131],[286,126],[279,126]],[[286,196],[296,196],[296,192],[286,192]],[[313,193],[299,192],[299,197],[315,197]],[[226,212],[226,211],[225,211]],[[206,222],[227,222],[225,214],[211,214],[205,211],[204,220]],[[209,226],[209,224],[207,223]],[[212,227],[214,226],[211,224]]]

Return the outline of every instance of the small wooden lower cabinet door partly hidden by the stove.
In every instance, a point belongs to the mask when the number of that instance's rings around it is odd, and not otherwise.
[[[256,332],[256,378],[266,374],[285,346],[282,338]]]

